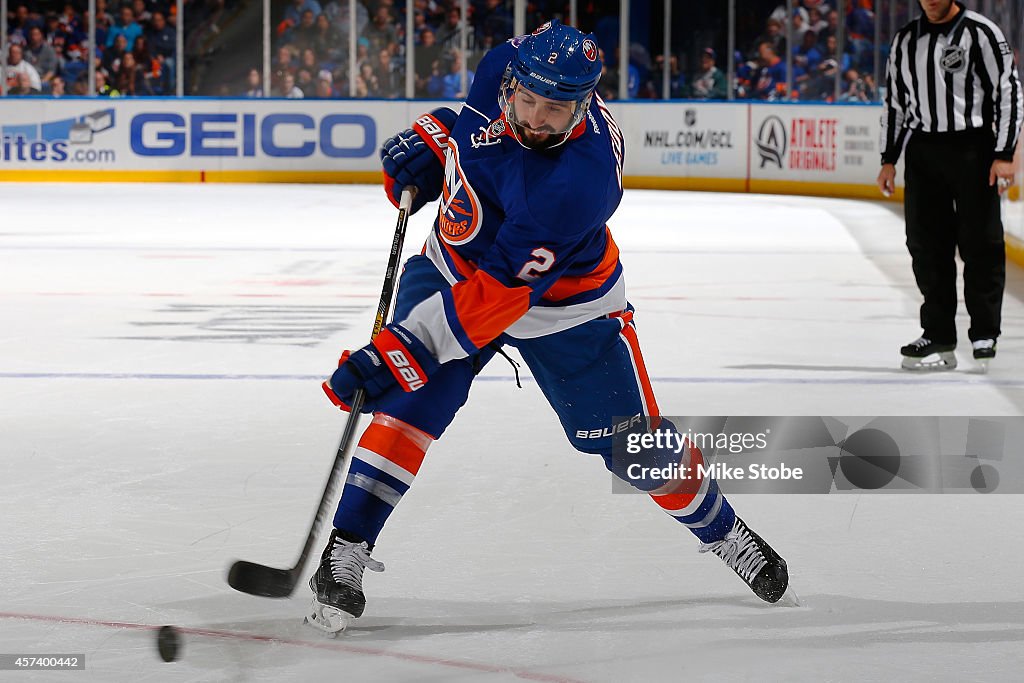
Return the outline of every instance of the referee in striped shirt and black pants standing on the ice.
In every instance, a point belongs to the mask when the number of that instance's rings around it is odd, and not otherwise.
[[[953,0],[921,0],[889,53],[879,188],[895,190],[906,147],[906,246],[925,302],[906,370],[956,367],[956,249],[974,357],[984,370],[999,336],[1006,254],[999,196],[1013,183],[1024,119],[1013,49],[1002,32]]]

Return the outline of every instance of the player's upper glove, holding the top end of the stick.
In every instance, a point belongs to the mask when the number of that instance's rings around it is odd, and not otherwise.
[[[442,106],[421,116],[412,128],[384,140],[381,146],[384,191],[395,208],[402,188],[410,185],[418,190],[413,198],[413,213],[440,196],[449,132],[458,118],[458,114]]]

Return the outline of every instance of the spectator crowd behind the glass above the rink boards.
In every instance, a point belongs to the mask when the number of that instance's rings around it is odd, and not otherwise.
[[[174,0],[96,0],[96,45],[88,45],[89,15],[85,0],[58,3],[11,0],[8,12],[4,78],[10,94],[89,94],[88,58],[96,63],[96,94],[174,94]],[[835,1],[835,0],[833,0]],[[406,2],[413,3],[412,26],[407,26]],[[243,71],[209,90],[243,97],[404,97],[406,41],[412,32],[412,91],[415,97],[462,98],[472,84],[476,65],[493,46],[513,36],[512,0],[469,0],[463,22],[459,0],[273,0],[269,92],[264,92],[261,65]],[[568,20],[567,0],[530,0],[527,30],[551,17]],[[779,0],[745,3],[750,20],[737,27],[733,55],[735,72],[726,73],[725,33],[714,9],[692,9],[684,16],[692,36],[675,25],[673,51],[668,55],[668,84],[664,83],[666,55],[651,55],[648,45],[660,45],[662,26],[645,16],[640,33],[651,34],[646,44],[635,41],[622,58],[617,47],[617,0],[578,0],[578,24],[594,32],[602,47],[604,69],[599,91],[616,99],[620,79],[627,79],[627,95],[638,99],[670,98],[815,101],[872,101],[878,98],[874,71],[874,0],[848,0],[845,16],[827,0],[795,0],[794,9]],[[251,10],[261,11],[249,3]],[[660,3],[652,3],[660,5]],[[237,0],[186,0],[185,54],[193,40],[216,41],[221,26],[231,18],[225,7]],[[698,15],[714,30],[702,31]],[[718,12],[721,13],[721,12]],[[352,15],[354,14],[354,15]],[[226,17],[226,19],[225,19]],[[839,27],[845,27],[840,50]],[[465,30],[464,30],[465,25]],[[634,35],[636,35],[634,27]],[[189,31],[195,34],[189,38]],[[787,31],[792,45],[786,40]],[[354,36],[353,36],[354,34]],[[656,34],[656,35],[655,35]],[[693,37],[695,36],[695,38]],[[350,44],[354,38],[354,65]],[[883,45],[881,59],[887,46]],[[229,58],[229,50],[211,50]],[[786,55],[792,55],[792,83],[787,85]],[[248,58],[245,59],[248,61]],[[243,61],[242,63],[245,63]],[[465,81],[462,74],[466,66]]]

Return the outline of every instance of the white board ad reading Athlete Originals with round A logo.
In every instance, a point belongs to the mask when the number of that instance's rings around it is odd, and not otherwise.
[[[881,113],[865,105],[751,105],[751,178],[873,183]]]

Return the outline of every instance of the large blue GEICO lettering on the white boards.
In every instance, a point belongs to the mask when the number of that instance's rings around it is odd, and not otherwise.
[[[140,157],[371,157],[377,124],[365,114],[143,112],[130,124]]]

